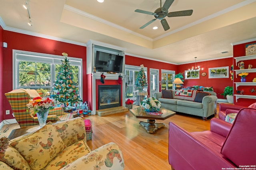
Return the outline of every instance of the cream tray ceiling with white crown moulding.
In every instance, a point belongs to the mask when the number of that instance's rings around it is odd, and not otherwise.
[[[0,0],[5,30],[78,44],[92,39],[126,48],[128,55],[174,64],[194,62],[194,57],[231,57],[231,43],[256,39],[256,0],[174,0],[168,12],[192,9],[193,14],[166,17],[167,31],[160,20],[139,29],[154,16],[134,12],[154,12],[160,0],[28,0],[32,26],[23,4],[25,0]]]

